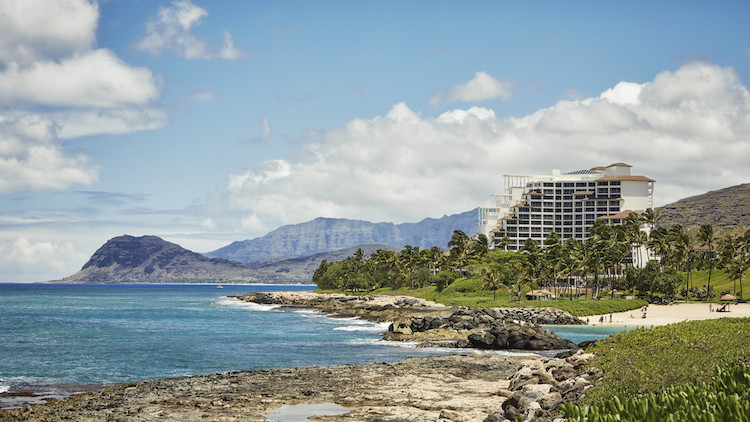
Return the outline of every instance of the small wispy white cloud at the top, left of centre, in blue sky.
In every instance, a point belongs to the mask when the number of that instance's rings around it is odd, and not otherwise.
[[[145,35],[134,46],[155,56],[172,53],[186,59],[236,60],[243,57],[244,53],[235,47],[229,31],[222,32],[224,42],[218,51],[193,33],[206,16],[208,11],[190,0],[175,0],[171,7],[159,8],[146,23]]]

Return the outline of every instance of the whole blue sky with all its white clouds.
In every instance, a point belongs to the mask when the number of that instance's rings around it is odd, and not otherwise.
[[[745,1],[0,2],[0,281],[108,239],[196,252],[417,222],[503,174],[750,182]]]

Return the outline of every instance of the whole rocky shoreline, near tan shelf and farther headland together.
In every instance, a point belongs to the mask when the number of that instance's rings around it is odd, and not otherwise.
[[[334,317],[396,321],[386,336],[402,336],[410,341],[420,336],[423,340],[433,338],[431,341],[453,336],[453,347],[476,349],[506,348],[515,342],[511,340],[515,338],[512,332],[536,332],[540,321],[574,318],[549,310],[449,308],[410,297],[360,298],[295,292],[256,293],[240,299],[316,308]],[[534,335],[516,337],[533,340]],[[567,345],[575,346],[569,342]],[[521,416],[525,420],[552,421],[559,418],[562,403],[580,398],[601,375],[586,370],[584,363],[591,355],[582,350],[556,358],[507,356],[471,349],[457,352],[392,363],[143,381],[45,405],[0,411],[0,420],[268,421],[264,414],[282,405],[335,403],[348,412],[316,415],[315,420],[501,422]]]

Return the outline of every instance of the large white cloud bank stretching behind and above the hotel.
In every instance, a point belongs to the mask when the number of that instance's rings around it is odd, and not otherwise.
[[[416,221],[484,204],[501,193],[502,174],[623,161],[657,180],[658,206],[750,179],[749,110],[734,70],[708,63],[522,118],[482,107],[423,117],[399,103],[231,175],[227,190],[248,228],[317,216]]]

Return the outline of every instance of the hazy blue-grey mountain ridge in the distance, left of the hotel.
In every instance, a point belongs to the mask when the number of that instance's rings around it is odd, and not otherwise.
[[[426,218],[418,223],[371,223],[343,218],[316,218],[301,224],[280,227],[265,236],[233,242],[205,255],[244,262],[255,268],[289,258],[381,244],[400,249],[404,245],[447,247],[453,230],[473,235],[477,230],[477,210],[442,218]]]

